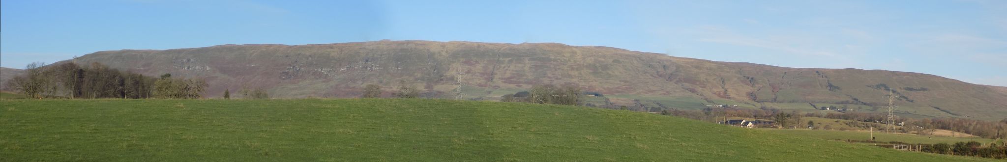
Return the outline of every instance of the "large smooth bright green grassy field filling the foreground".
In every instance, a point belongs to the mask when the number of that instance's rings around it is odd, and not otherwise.
[[[0,161],[992,161],[522,103],[5,100],[0,108]]]

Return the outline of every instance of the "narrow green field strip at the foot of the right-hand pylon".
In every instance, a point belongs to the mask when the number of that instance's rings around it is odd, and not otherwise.
[[[813,137],[821,138],[827,140],[857,140],[866,141],[871,138],[871,133],[866,131],[829,131],[829,130],[803,130],[803,129],[762,129],[770,132],[775,132],[779,134],[789,135],[789,136],[802,136],[802,137]],[[954,144],[956,142],[969,142],[976,141],[983,144],[993,142],[991,139],[984,138],[956,138],[956,137],[929,137],[921,136],[915,134],[887,134],[874,132],[874,137],[878,142],[903,142],[909,144],[937,144],[937,143],[948,143]]]

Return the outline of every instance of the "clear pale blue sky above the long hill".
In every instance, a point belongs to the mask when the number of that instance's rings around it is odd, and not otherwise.
[[[435,40],[601,45],[1007,86],[1007,1],[0,1],[0,66],[101,50]]]

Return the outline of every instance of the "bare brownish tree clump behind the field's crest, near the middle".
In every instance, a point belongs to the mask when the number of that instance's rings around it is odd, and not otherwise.
[[[537,85],[533,86],[532,90],[529,92],[519,92],[500,97],[500,102],[555,104],[568,106],[581,106],[584,104],[584,91],[572,85],[562,87],[555,85]]]

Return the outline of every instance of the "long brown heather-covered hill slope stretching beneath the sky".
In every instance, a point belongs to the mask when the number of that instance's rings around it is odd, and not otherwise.
[[[68,61],[68,60],[67,60]],[[204,77],[208,95],[264,88],[278,98],[356,97],[368,84],[391,91],[399,80],[426,97],[453,97],[467,84],[467,98],[495,100],[539,84],[573,84],[607,99],[592,105],[631,109],[806,109],[846,106],[877,112],[886,90],[899,97],[905,117],[1007,117],[1007,93],[997,87],[932,74],[865,69],[789,68],[721,62],[559,43],[373,41],[309,45],[218,45],[168,50],[100,51],[77,58],[146,74]]]

